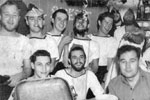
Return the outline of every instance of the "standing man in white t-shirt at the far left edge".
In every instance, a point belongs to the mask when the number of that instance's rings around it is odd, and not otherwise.
[[[29,39],[16,32],[20,10],[14,1],[6,1],[0,7],[0,75],[7,75],[8,85],[0,85],[0,98],[7,100],[11,89],[31,74]],[[6,89],[5,89],[6,88]]]

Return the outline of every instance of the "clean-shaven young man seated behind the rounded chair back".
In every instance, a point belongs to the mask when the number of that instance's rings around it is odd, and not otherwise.
[[[53,77],[50,75],[50,72],[52,72],[53,67],[51,65],[52,63],[51,55],[48,51],[37,50],[32,54],[30,60],[31,60],[31,67],[34,73],[31,77],[26,79],[27,81],[41,80]],[[8,100],[16,100],[15,89],[11,93]]]

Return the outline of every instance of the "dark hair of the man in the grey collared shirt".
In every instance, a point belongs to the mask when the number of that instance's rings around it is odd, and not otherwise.
[[[123,45],[121,46],[118,51],[117,51],[117,58],[119,59],[120,56],[125,53],[125,52],[129,52],[129,51],[135,51],[136,55],[138,57],[138,59],[140,58],[141,55],[141,49],[137,48],[135,46],[131,46],[131,45]]]

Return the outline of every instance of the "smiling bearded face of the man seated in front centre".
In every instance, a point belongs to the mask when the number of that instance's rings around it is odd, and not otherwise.
[[[81,50],[75,50],[71,52],[70,63],[75,71],[82,71],[85,65],[85,55]]]

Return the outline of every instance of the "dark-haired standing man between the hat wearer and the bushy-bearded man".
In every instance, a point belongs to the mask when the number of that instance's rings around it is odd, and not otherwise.
[[[47,32],[51,37],[55,39],[59,51],[59,62],[57,63],[53,73],[56,73],[57,70],[65,68],[61,57],[63,56],[63,50],[65,45],[72,41],[72,37],[67,35],[65,32],[69,20],[69,15],[65,9],[57,9],[52,14],[52,30]]]

